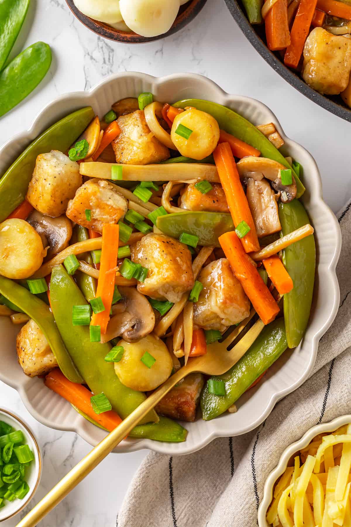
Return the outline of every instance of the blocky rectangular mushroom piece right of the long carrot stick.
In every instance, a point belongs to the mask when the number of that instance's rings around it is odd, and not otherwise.
[[[258,238],[282,230],[278,216],[276,194],[266,179],[248,178],[246,198],[255,223]]]

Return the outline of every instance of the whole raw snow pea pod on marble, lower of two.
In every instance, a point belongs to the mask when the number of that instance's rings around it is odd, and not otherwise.
[[[0,116],[31,93],[41,82],[51,64],[51,49],[36,42],[19,53],[0,73]]]

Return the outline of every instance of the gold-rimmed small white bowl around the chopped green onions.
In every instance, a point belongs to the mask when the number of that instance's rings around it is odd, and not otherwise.
[[[25,442],[34,454],[34,461],[32,461],[26,470],[26,482],[29,486],[28,494],[23,500],[18,500],[16,498],[12,502],[5,501],[5,506],[0,509],[0,522],[3,522],[12,518],[12,516],[19,511],[22,511],[22,509],[24,509],[24,507],[32,500],[42,477],[42,453],[31,428],[29,428],[22,418],[18,417],[18,415],[14,414],[7,408],[0,408],[0,421],[5,421],[5,423],[13,426],[15,430],[22,430]]]

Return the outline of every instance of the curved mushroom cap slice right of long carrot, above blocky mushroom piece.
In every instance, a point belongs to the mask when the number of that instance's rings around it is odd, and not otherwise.
[[[253,155],[249,155],[246,158],[240,159],[237,163],[237,169],[240,178],[253,178],[262,179],[257,177],[263,175],[265,178],[272,181],[272,187],[280,191],[280,200],[283,203],[292,201],[296,197],[296,182],[293,176],[293,182],[291,185],[283,185],[282,177],[280,176],[280,170],[286,170],[286,167],[273,159],[268,158],[257,158]]]

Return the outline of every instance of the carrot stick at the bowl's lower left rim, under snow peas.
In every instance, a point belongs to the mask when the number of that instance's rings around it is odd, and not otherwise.
[[[113,410],[96,414],[90,402],[93,394],[81,384],[72,383],[71,380],[68,380],[59,368],[53,369],[46,375],[45,386],[61,395],[66,401],[76,406],[109,432],[112,432],[119,423],[122,423],[121,417]]]

